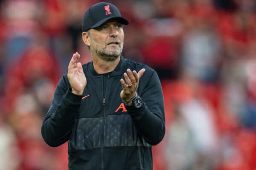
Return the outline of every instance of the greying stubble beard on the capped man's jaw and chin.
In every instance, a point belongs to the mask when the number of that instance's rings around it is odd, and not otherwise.
[[[103,47],[103,45],[98,44],[95,41],[91,41],[90,50],[92,50],[99,58],[104,61],[114,61],[116,60],[122,53],[123,43],[120,44],[118,50],[109,51],[107,50],[107,45]]]

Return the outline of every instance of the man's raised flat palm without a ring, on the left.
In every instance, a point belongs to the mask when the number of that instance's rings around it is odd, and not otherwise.
[[[67,72],[67,78],[70,82],[72,93],[76,95],[82,95],[87,84],[81,62],[78,62],[79,58],[80,54],[78,54],[78,52],[73,54]]]

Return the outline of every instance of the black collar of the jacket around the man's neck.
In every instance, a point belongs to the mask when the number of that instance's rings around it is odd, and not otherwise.
[[[119,76],[119,75],[123,74],[126,71],[126,69],[127,69],[128,61],[129,61],[128,59],[125,59],[121,55],[121,59],[120,59],[118,65],[116,66],[116,68],[113,71],[111,71],[109,76]],[[85,72],[88,75],[92,76],[92,77],[99,77],[100,76],[100,74],[98,74],[95,71],[95,69],[93,67],[93,62],[89,62],[87,64],[87,68],[85,68],[85,70],[86,70]]]

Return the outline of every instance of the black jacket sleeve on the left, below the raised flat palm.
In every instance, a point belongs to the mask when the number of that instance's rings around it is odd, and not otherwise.
[[[41,127],[43,139],[49,146],[57,147],[70,139],[81,97],[71,93],[67,76],[63,76]]]

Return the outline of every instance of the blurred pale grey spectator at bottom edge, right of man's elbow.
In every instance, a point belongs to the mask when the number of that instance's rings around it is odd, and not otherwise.
[[[188,122],[181,113],[180,104],[177,103],[174,107],[174,117],[168,129],[164,151],[166,170],[188,170],[195,164],[197,156],[195,139]]]

